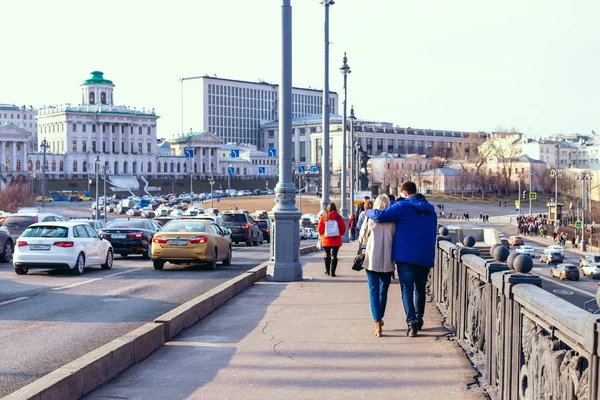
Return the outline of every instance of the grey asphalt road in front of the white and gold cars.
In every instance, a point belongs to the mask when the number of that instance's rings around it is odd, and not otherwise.
[[[81,276],[52,270],[14,273],[0,264],[0,397],[151,322],[269,257],[268,245],[234,246],[230,266],[167,264],[115,257],[112,270]]]

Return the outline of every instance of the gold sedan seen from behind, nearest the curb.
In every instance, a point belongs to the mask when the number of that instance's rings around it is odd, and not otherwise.
[[[171,264],[231,264],[231,237],[209,220],[171,220],[152,238],[154,269]]]

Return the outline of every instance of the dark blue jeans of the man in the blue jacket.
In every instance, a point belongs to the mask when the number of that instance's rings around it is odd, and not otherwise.
[[[402,290],[402,303],[406,313],[406,323],[413,324],[423,319],[425,314],[425,286],[429,268],[396,262],[398,279]]]

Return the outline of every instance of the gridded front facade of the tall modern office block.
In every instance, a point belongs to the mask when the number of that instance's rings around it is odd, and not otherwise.
[[[322,113],[322,90],[293,88],[293,117]],[[329,94],[330,112],[337,113],[338,95]],[[202,129],[224,143],[264,148],[260,124],[279,118],[279,85],[234,79],[202,77]]]

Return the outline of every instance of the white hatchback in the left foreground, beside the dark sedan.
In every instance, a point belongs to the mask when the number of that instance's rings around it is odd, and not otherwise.
[[[73,275],[81,275],[85,267],[92,265],[111,269],[113,249],[87,223],[42,222],[19,236],[13,265],[18,275],[32,268],[68,269]]]

